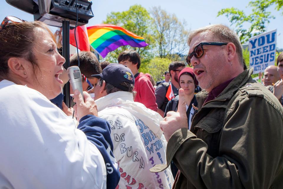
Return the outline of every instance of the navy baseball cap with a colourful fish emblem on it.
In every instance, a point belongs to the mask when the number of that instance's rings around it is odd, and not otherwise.
[[[106,83],[123,91],[128,91],[129,89],[120,85],[122,82],[135,85],[135,78],[131,70],[127,66],[118,63],[111,63],[102,70],[101,74],[91,76],[98,79],[102,78]]]

